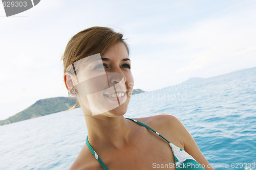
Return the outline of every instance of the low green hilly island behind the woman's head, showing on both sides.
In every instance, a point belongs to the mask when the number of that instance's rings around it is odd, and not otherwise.
[[[134,89],[133,94],[144,92],[141,89]],[[42,99],[28,107],[27,109],[5,119],[0,120],[1,125],[7,125],[22,120],[44,116],[52,113],[68,110],[71,106],[76,104],[76,99],[70,99],[65,97]],[[79,107],[79,106],[78,106]]]

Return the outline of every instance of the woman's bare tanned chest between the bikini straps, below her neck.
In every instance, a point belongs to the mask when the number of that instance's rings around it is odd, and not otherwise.
[[[105,157],[108,169],[175,169],[172,149],[160,136],[146,132]]]

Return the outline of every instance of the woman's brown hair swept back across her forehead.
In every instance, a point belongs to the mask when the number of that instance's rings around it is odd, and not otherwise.
[[[129,47],[123,39],[121,33],[115,32],[107,27],[91,27],[74,35],[66,46],[63,60],[64,74],[70,65],[84,57],[100,53],[102,55],[108,48],[117,42],[122,42],[129,54]],[[64,81],[66,81],[64,77]],[[74,109],[79,102],[72,106],[70,110]]]

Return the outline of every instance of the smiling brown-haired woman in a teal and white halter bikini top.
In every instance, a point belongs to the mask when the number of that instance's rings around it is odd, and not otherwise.
[[[213,169],[175,116],[124,118],[134,81],[122,37],[92,27],[73,36],[62,57],[88,128],[70,169]]]

